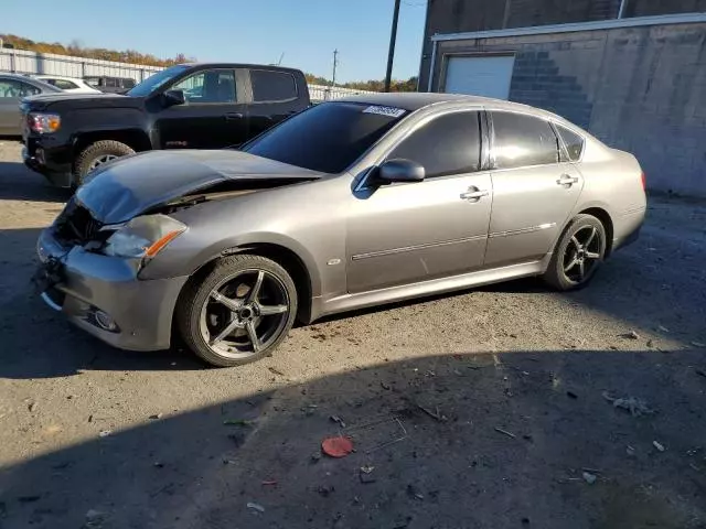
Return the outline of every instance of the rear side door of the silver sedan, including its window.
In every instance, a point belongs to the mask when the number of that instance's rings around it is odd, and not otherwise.
[[[576,205],[584,179],[560,161],[560,145],[548,120],[493,111],[491,179],[493,212],[486,267],[541,259],[552,251]]]

